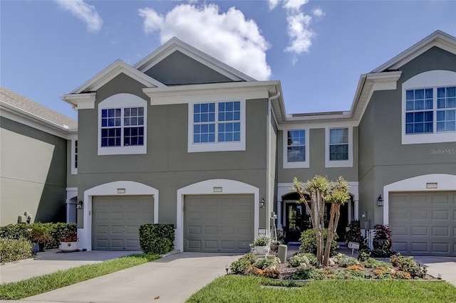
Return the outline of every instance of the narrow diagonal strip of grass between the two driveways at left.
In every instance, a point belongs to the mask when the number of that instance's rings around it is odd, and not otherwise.
[[[68,270],[59,270],[48,275],[32,277],[19,282],[0,284],[0,299],[17,300],[31,297],[53,289],[66,287],[94,277],[108,275],[125,268],[160,259],[158,255],[128,255],[96,264],[82,265]]]

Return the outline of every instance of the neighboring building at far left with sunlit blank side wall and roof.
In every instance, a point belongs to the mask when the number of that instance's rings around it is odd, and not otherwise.
[[[76,222],[68,203],[66,172],[78,122],[0,87],[0,225]]]

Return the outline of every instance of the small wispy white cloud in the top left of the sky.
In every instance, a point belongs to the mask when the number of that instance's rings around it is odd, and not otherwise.
[[[71,11],[73,16],[86,23],[90,32],[97,33],[103,25],[103,20],[98,15],[95,6],[86,4],[83,0],[54,0],[66,11]]]

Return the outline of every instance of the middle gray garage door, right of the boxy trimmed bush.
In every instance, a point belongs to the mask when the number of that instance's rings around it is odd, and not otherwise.
[[[248,252],[253,240],[254,196],[185,196],[185,251]]]

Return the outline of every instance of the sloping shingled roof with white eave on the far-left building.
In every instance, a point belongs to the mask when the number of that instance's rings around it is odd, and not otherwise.
[[[78,122],[75,119],[51,110],[2,86],[0,86],[0,105],[2,112],[4,110],[14,112],[15,115],[36,120],[36,122],[47,124],[49,127],[57,127],[58,129],[75,129],[78,127]]]

